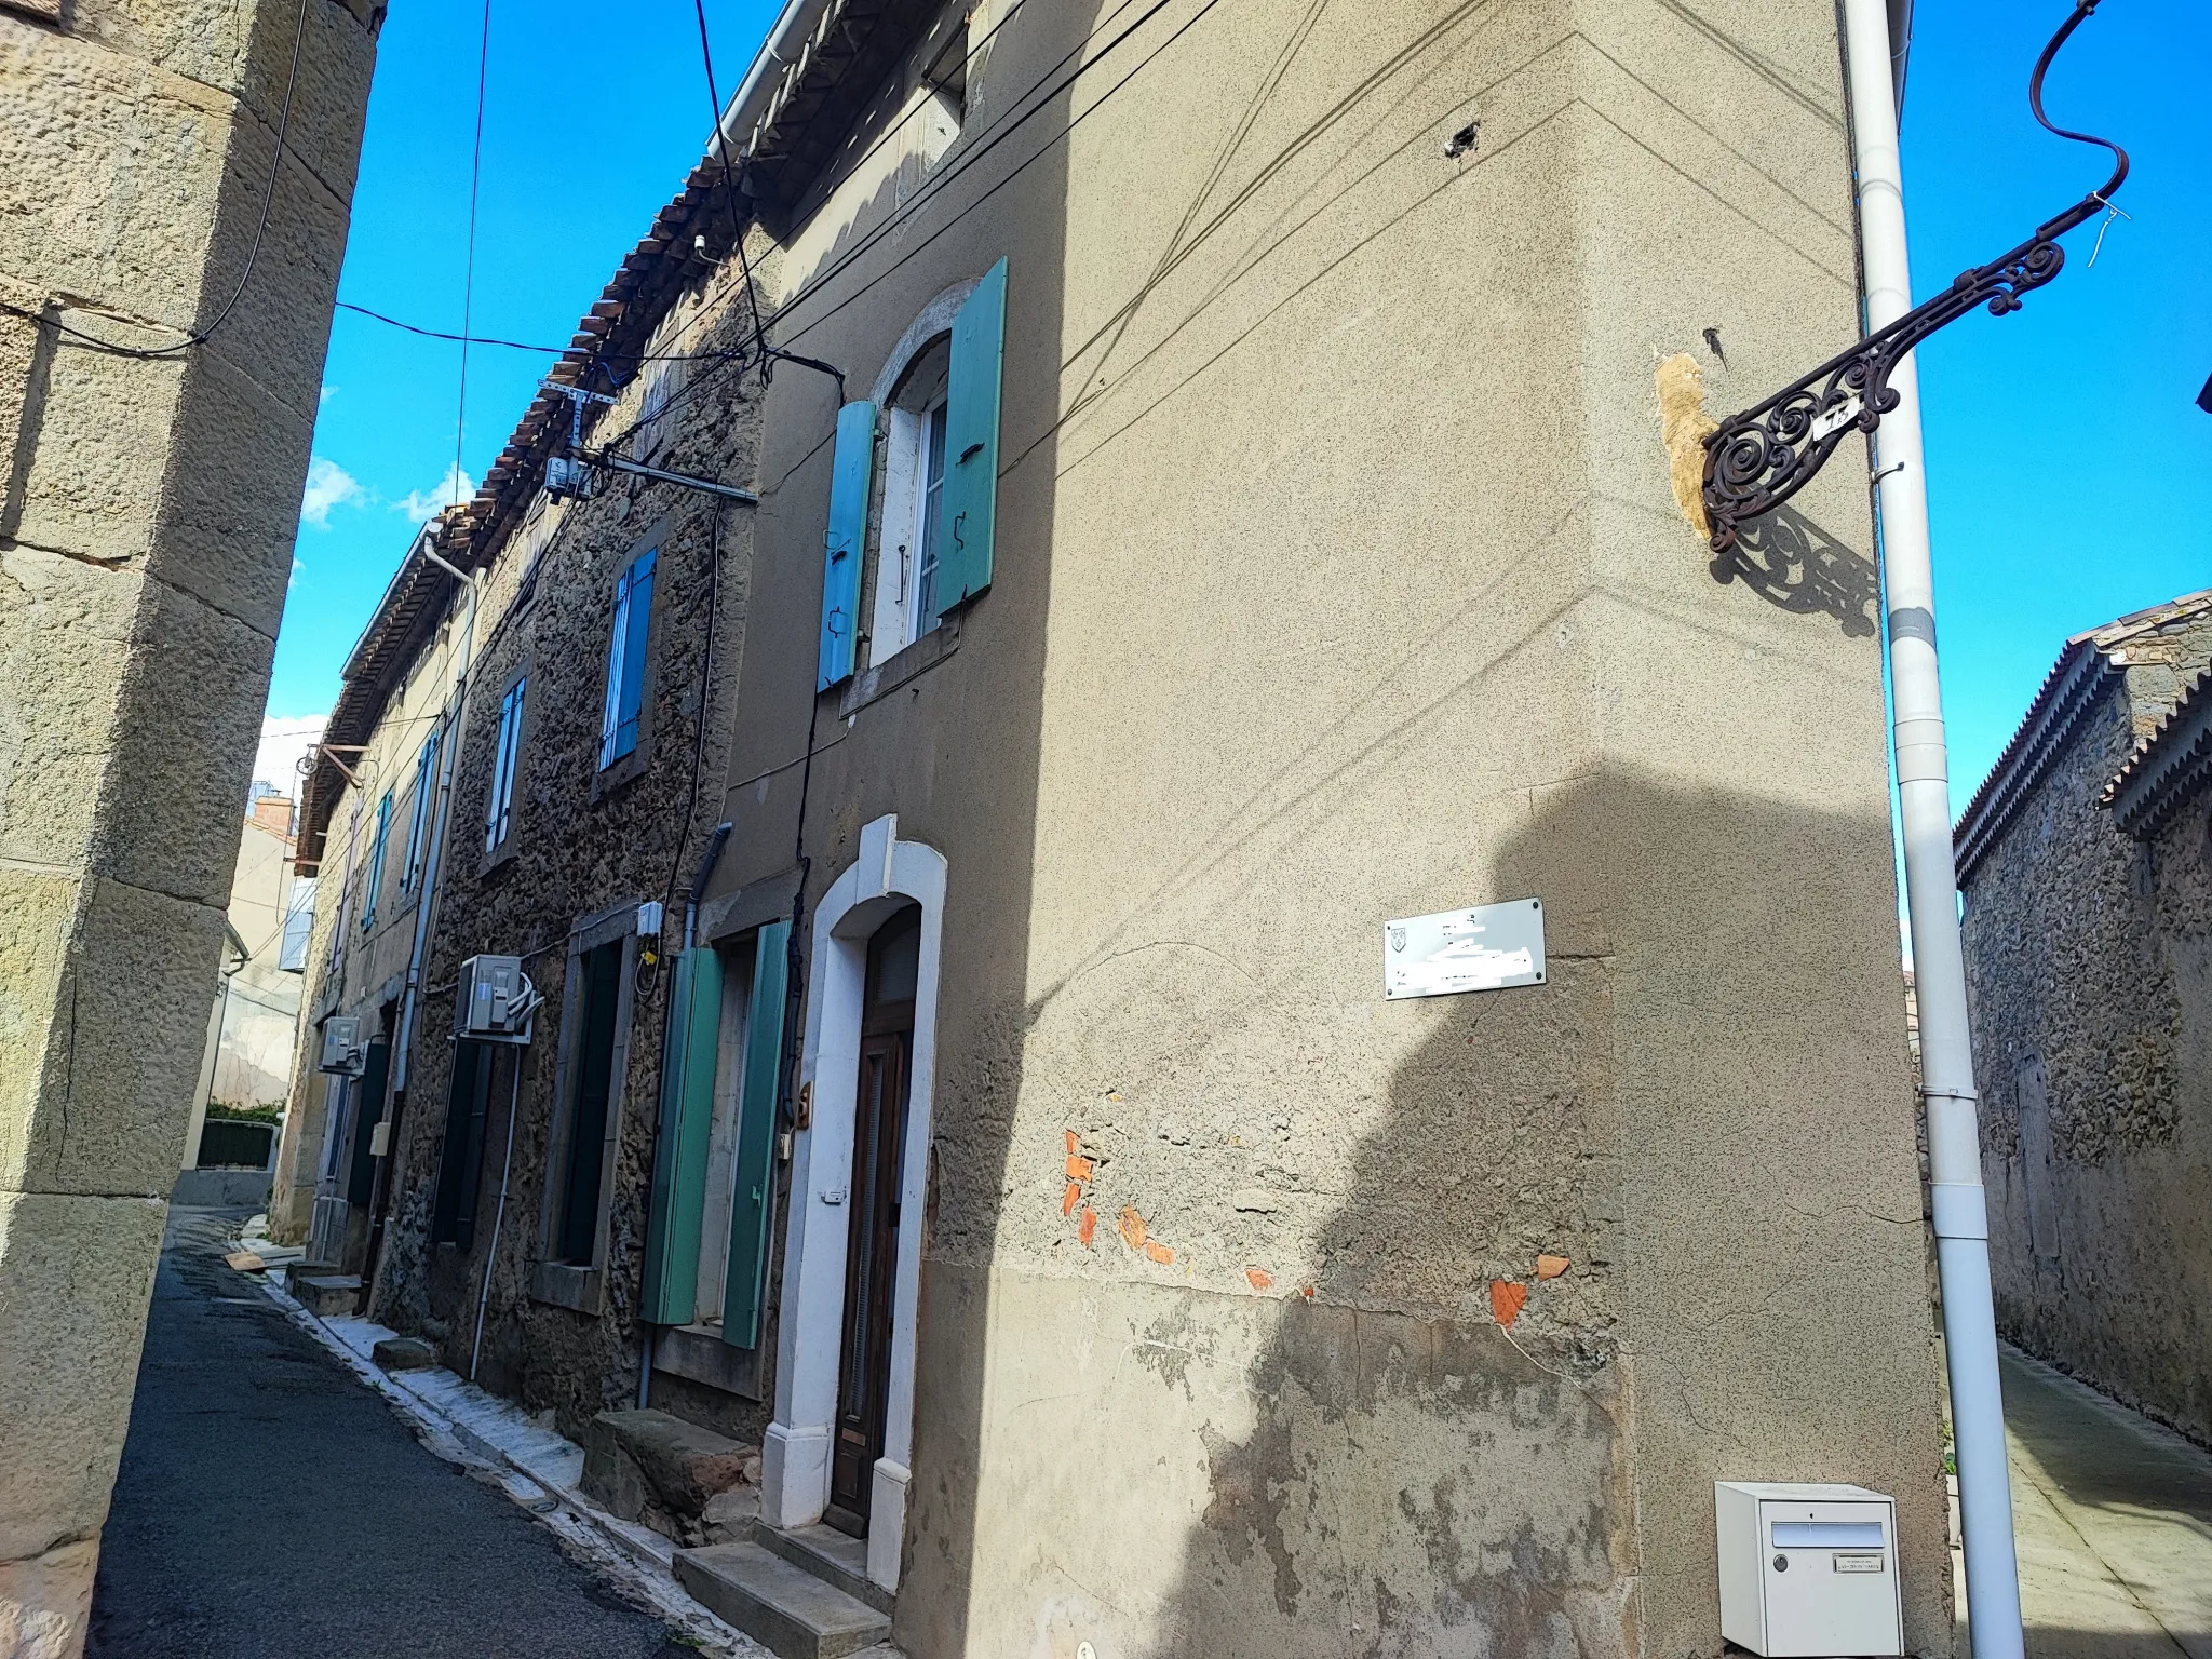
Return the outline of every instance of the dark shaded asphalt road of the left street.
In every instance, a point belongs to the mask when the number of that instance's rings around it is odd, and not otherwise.
[[[100,1546],[95,1659],[695,1659],[173,1212]]]

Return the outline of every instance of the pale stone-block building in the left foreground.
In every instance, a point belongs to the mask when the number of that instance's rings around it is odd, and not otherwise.
[[[84,1641],[372,0],[0,4],[0,1650]]]

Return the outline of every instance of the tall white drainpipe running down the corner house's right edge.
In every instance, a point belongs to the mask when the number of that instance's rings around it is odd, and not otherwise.
[[[1858,170],[1858,234],[1867,332],[1911,310],[1905,254],[1905,175],[1885,0],[1843,0]],[[2013,1489],[2004,1460],[2004,1396],[1989,1290],[1989,1208],[1975,1126],[1966,967],[1951,860],[1951,783],[1942,681],[1936,672],[1936,584],[1929,566],[1927,473],[1920,451],[1920,376],[1905,358],[1889,380],[1898,407],[1871,438],[1889,604],[1889,681],[1896,723],[1905,896],[1920,995],[1920,1095],[1927,1104],[1936,1265],[1942,1276],[1951,1433],[1966,1533],[1966,1610],[1975,1659],[2022,1659]]]

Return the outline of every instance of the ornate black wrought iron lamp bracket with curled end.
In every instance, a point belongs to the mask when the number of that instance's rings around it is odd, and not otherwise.
[[[2108,148],[2117,159],[2112,177],[2066,212],[2039,223],[2017,248],[1962,272],[1936,299],[1798,376],[1765,403],[1723,420],[1705,438],[1703,495],[1714,553],[1728,553],[1736,544],[1745,520],[1774,511],[1805,489],[1847,434],[1874,431],[1882,416],[1898,407],[1889,376],[1907,352],[1975,307],[1986,305],[1991,316],[2017,312],[2022,294],[2048,283],[2066,263],[2059,237],[2110,210],[2112,192],[2128,177],[2128,153],[2110,139],[2051,126],[2044,117],[2044,71],[2097,4],[2099,0],[2075,0],[2073,15],[2035,60],[2035,73],[2028,75],[2028,108],[2059,137]]]

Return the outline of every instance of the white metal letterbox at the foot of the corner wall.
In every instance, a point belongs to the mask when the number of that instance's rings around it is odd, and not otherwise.
[[[1721,1635],[1765,1659],[1905,1652],[1898,1506],[1865,1486],[1719,1480]]]

